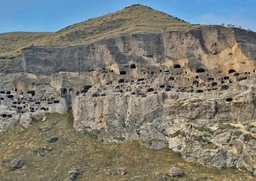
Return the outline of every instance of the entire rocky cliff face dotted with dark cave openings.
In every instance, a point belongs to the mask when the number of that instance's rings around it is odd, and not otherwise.
[[[0,61],[1,130],[69,108],[102,141],[253,171],[255,59],[255,33],[218,25],[27,47]]]

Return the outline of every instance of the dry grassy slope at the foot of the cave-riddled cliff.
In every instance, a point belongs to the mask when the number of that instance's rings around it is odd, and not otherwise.
[[[40,127],[52,125],[50,131]],[[15,127],[0,134],[0,180],[63,180],[68,171],[78,169],[79,180],[163,180],[172,166],[184,170],[184,178],[199,180],[250,180],[250,173],[236,169],[218,170],[184,161],[180,154],[168,148],[153,150],[136,141],[127,143],[102,143],[93,134],[82,135],[72,127],[72,114],[47,115],[45,121],[33,124],[19,133]],[[58,136],[54,143],[45,141]],[[50,148],[36,154],[35,148]],[[20,158],[24,167],[11,171],[10,161]],[[117,170],[124,168],[125,175]]]

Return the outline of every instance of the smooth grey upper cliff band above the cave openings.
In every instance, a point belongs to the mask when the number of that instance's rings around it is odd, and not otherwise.
[[[3,66],[2,71],[10,73],[17,62],[22,65],[15,69],[17,72],[51,75],[59,71],[93,71],[115,63],[152,64],[182,59],[191,60],[191,64],[196,64],[195,67],[189,68],[205,66],[213,69],[218,68],[216,64],[222,62],[211,62],[211,58],[218,58],[226,53],[225,57],[221,58],[232,61],[232,48],[235,45],[246,57],[255,59],[255,41],[255,33],[221,26],[202,26],[188,31],[166,33],[121,35],[85,45],[24,48],[22,55],[14,58],[14,61],[10,60],[10,64]]]

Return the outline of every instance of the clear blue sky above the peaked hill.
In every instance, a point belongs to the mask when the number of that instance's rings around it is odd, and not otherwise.
[[[234,24],[256,31],[256,0],[0,0],[0,33],[58,31],[131,4],[143,4],[191,24]]]

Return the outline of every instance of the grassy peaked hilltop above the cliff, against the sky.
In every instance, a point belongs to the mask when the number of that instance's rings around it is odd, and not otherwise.
[[[129,6],[122,11],[70,25],[56,33],[0,34],[0,57],[20,54],[31,45],[72,45],[131,33],[156,33],[189,29],[192,25],[147,6]]]

